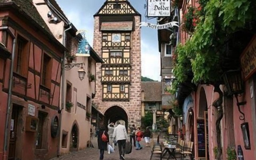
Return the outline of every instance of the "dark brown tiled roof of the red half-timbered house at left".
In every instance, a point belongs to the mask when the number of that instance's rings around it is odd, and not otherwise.
[[[20,7],[21,11],[30,16],[37,24],[42,26],[44,30],[46,30],[49,34],[52,35],[52,32],[48,28],[47,24],[44,22],[40,14],[38,13],[36,7],[33,5],[32,0],[0,0],[1,3],[13,2],[18,7]]]

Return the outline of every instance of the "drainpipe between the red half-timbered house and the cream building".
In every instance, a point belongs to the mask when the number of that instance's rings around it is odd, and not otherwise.
[[[71,23],[69,24],[69,28],[64,30],[63,33],[63,46],[66,47],[66,32],[72,28]],[[63,54],[62,58],[62,86],[61,86],[61,108],[60,108],[60,121],[59,121],[59,136],[58,136],[58,151],[57,151],[57,157],[60,157],[60,136],[61,136],[61,118],[62,114],[61,111],[64,109],[64,96],[65,96],[65,57],[66,52]]]

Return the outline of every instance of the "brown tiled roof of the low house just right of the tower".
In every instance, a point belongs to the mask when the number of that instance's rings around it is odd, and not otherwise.
[[[162,101],[161,82],[141,82],[141,90],[144,90],[145,102]]]

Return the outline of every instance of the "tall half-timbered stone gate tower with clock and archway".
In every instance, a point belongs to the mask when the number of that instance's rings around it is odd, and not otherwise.
[[[93,47],[104,61],[96,68],[94,104],[105,123],[140,125],[140,22],[128,0],[106,0],[94,15]]]

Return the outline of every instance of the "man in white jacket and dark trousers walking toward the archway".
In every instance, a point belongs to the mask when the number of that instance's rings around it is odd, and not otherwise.
[[[119,121],[117,121],[116,124],[117,126],[114,129],[113,139],[115,139],[118,143],[120,160],[125,160],[124,159],[125,143],[128,140],[128,135],[127,135],[125,126],[121,125]]]

